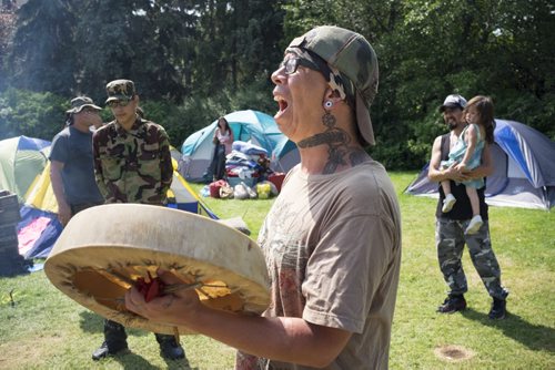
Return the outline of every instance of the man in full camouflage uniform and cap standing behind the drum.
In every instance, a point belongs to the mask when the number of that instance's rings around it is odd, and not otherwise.
[[[107,104],[115,120],[94,133],[92,144],[97,184],[105,203],[165,205],[173,167],[164,129],[138,115],[139,95],[132,81],[112,81],[107,92]],[[155,337],[160,356],[173,360],[184,358],[184,350],[173,336],[157,333]],[[104,342],[92,359],[127,348],[124,327],[105,320]]]

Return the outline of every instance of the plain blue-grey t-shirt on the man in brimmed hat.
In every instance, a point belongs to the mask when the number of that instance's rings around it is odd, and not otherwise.
[[[94,181],[91,132],[63,129],[52,141],[49,158],[63,163],[63,191],[70,205],[104,202]]]

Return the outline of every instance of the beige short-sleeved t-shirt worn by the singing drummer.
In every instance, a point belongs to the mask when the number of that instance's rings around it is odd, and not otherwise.
[[[331,175],[300,166],[259,235],[272,281],[266,317],[299,317],[351,339],[326,369],[386,369],[401,266],[401,213],[384,167]],[[307,369],[238,353],[238,369]]]

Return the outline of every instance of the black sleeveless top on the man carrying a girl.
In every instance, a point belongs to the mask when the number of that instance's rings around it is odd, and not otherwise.
[[[446,161],[450,152],[450,134],[442,136],[442,161]],[[484,178],[485,183],[485,178]],[[480,198],[480,215],[483,219],[487,219],[487,204],[484,199],[485,185],[477,189]],[[443,199],[445,199],[445,194],[440,184],[440,202],[437,202],[437,209],[435,210],[435,216],[442,219],[456,219],[466,220],[472,218],[472,206],[468,196],[466,195],[466,186],[464,184],[456,184],[451,181],[451,193],[456,198],[456,203],[447,213],[442,212]]]

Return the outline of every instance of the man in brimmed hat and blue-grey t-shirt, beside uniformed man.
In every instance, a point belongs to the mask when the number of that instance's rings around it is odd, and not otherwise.
[[[94,181],[92,129],[102,124],[92,99],[78,96],[67,111],[67,126],[50,150],[50,182],[58,203],[58,218],[65,225],[78,212],[103,203]]]

